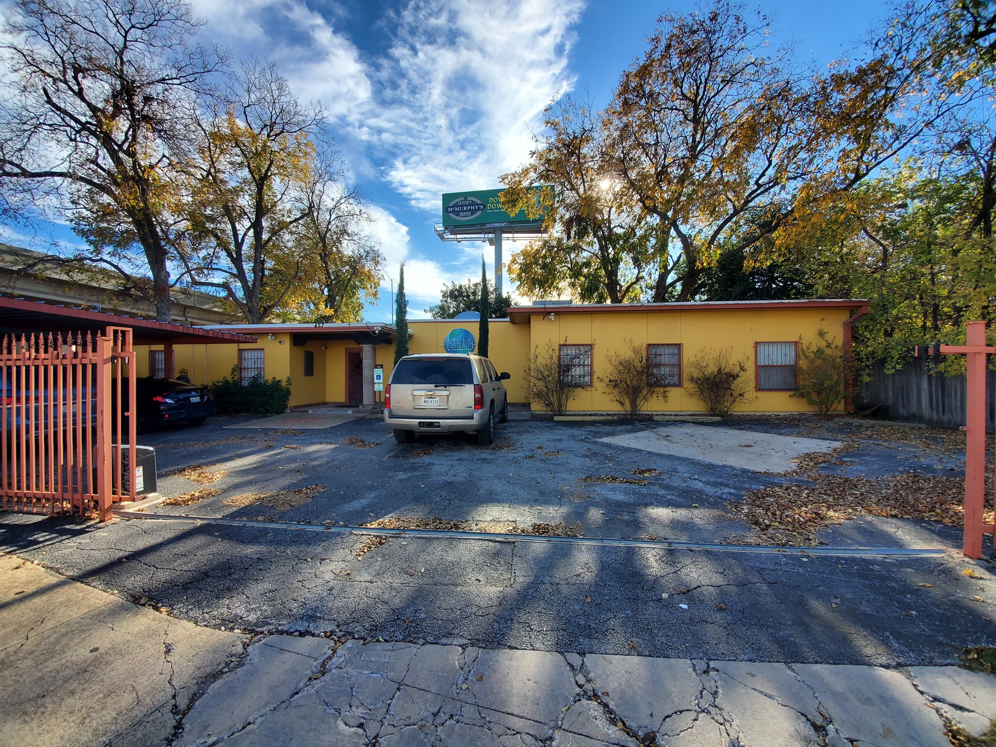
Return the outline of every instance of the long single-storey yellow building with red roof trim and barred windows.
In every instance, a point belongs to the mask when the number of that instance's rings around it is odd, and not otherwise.
[[[800,343],[814,343],[821,329],[845,349],[851,326],[867,311],[856,300],[689,302],[667,304],[570,305],[538,302],[508,310],[509,319],[491,320],[489,358],[508,372],[509,401],[529,399],[524,373],[533,352],[554,350],[561,369],[577,387],[569,409],[577,412],[620,410],[601,378],[609,359],[630,345],[644,348],[654,385],[666,398],[647,409],[694,412],[703,409],[685,385],[687,362],[703,351],[731,351],[749,367],[754,396],[738,409],[793,412],[812,409],[790,396],[795,387]],[[476,320],[409,321],[409,353],[443,353],[450,332],[463,329],[475,339]],[[390,325],[293,324],[223,325],[209,329],[255,335],[247,345],[176,346],[148,349],[139,355],[139,375],[186,373],[193,383],[209,383],[233,371],[243,378],[290,377],[292,407],[373,402],[373,368],[383,367],[388,381],[394,357],[395,330]],[[532,403],[542,409],[542,404]]]

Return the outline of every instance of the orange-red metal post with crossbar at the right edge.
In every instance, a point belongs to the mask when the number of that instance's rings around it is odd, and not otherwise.
[[[964,355],[968,397],[965,418],[965,535],[962,554],[982,557],[982,535],[993,532],[992,524],[983,524],[982,509],[986,497],[986,354],[996,348],[986,347],[986,323],[968,322],[966,345],[942,345],[945,355]],[[993,535],[996,544],[996,533]]]

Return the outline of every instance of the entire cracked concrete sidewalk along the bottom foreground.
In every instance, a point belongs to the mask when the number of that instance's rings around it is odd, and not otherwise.
[[[782,664],[198,627],[0,556],[0,744],[945,747],[957,667]]]

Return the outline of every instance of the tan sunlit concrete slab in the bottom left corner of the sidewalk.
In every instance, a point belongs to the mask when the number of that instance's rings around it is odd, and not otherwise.
[[[244,644],[0,555],[0,745],[166,744]]]

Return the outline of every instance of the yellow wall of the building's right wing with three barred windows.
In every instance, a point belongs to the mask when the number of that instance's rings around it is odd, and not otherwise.
[[[625,350],[631,341],[637,346],[680,344],[682,371],[703,350],[732,350],[735,360],[747,366],[751,393],[737,407],[750,412],[798,412],[814,409],[788,391],[754,391],[754,344],[791,343],[802,339],[813,343],[822,328],[837,344],[843,341],[846,308],[829,309],[710,309],[694,311],[566,312],[549,316],[534,314],[530,321],[530,350],[546,349],[548,344],[591,345],[593,384],[578,387],[568,409],[573,411],[620,410],[619,403],[599,381],[608,368],[611,353]],[[520,325],[516,325],[520,326]],[[526,325],[521,325],[525,327]],[[685,383],[685,381],[682,381]],[[688,386],[667,387],[665,400],[654,398],[645,409],[661,412],[703,411],[702,403]],[[533,403],[534,409],[542,404]]]

